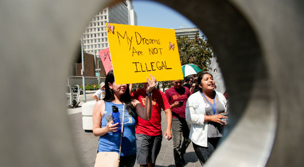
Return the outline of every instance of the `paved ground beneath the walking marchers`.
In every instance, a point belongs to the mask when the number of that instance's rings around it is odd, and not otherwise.
[[[74,112],[68,109],[68,117],[70,120],[72,134],[74,136],[74,144],[78,150],[79,158],[84,167],[94,166],[94,156],[96,153],[98,137],[94,137],[91,132],[85,132],[82,129],[82,113],[81,107]],[[77,111],[76,111],[77,110]],[[75,113],[76,112],[76,113]],[[162,111],[162,130],[165,132],[166,129],[166,114]],[[193,150],[192,143],[186,150],[184,155],[186,162],[185,167],[201,167],[197,156]],[[134,167],[139,167],[135,163]],[[156,159],[156,167],[175,167],[173,158],[173,140],[166,140],[163,138],[159,155]]]

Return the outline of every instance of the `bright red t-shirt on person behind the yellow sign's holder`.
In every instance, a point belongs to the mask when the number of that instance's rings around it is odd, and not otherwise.
[[[146,91],[144,89],[139,89],[132,92],[131,97],[140,101],[140,103],[145,107],[146,102]],[[161,109],[164,111],[171,109],[166,95],[158,90],[152,90],[152,116],[149,121],[146,121],[138,117],[138,124],[136,125],[137,134],[145,134],[149,136],[161,135]]]

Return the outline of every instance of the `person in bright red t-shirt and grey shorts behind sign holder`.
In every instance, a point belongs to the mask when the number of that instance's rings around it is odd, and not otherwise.
[[[154,167],[162,141],[161,109],[165,111],[167,117],[167,129],[163,137],[168,140],[172,138],[172,112],[167,97],[162,91],[154,88],[152,92],[146,92],[148,83],[143,83],[143,85],[144,88],[132,92],[131,97],[140,101],[144,107],[146,94],[152,93],[152,116],[149,121],[138,117],[138,124],[136,125],[136,158],[140,167]]]

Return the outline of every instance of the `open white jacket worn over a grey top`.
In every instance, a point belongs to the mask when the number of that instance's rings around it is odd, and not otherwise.
[[[218,101],[225,106],[227,111],[227,100],[223,94],[216,91]],[[201,92],[193,93],[187,100],[186,104],[186,121],[191,123],[189,138],[197,145],[207,147],[208,123],[204,123],[205,119],[205,103]],[[209,104],[208,104],[209,105]]]

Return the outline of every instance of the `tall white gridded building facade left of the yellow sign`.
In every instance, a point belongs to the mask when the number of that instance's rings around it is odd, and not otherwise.
[[[135,25],[137,15],[132,0],[121,0],[96,14],[83,33],[83,49],[87,53],[96,54],[109,47],[106,23]]]

